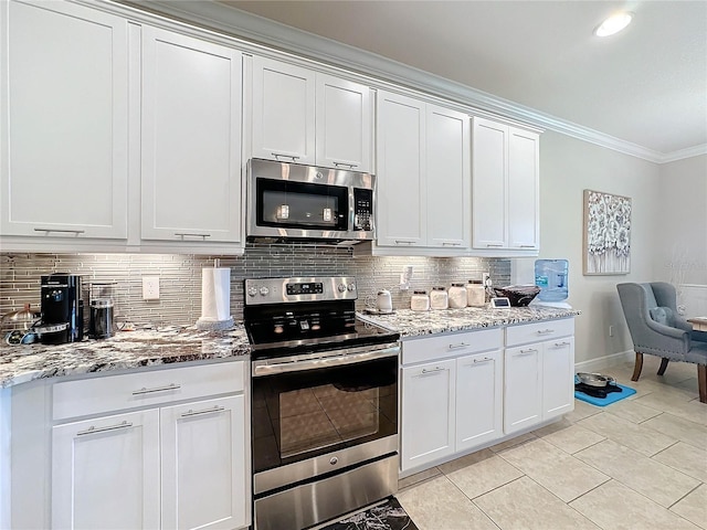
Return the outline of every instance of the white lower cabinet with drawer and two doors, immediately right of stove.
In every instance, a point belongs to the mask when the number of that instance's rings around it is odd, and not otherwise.
[[[503,435],[502,347],[502,328],[403,340],[402,471]]]

